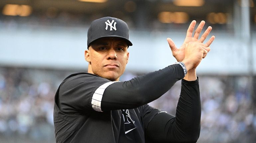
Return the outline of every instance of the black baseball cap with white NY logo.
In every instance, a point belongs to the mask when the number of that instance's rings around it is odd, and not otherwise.
[[[124,39],[128,46],[132,46],[128,25],[118,18],[104,17],[92,21],[87,32],[87,48],[93,41],[103,37],[119,37]]]

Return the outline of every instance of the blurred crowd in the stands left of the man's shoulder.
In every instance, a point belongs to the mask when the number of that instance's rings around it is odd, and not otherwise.
[[[66,75],[54,70],[0,68],[1,141],[55,139],[54,95]]]

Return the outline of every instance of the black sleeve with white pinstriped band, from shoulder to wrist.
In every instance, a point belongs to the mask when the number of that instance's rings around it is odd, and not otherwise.
[[[133,109],[159,98],[183,77],[179,64],[125,82],[112,82],[88,73],[77,74],[62,82],[56,93],[58,107],[70,114]]]

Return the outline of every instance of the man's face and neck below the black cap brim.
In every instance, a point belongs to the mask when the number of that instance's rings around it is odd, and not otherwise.
[[[105,37],[94,41],[85,51],[85,60],[89,62],[88,72],[118,81],[128,63],[127,43],[116,37]]]

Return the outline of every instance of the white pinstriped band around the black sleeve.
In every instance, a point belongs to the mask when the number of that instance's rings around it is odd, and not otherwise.
[[[115,82],[108,82],[108,83],[104,83],[103,85],[101,85],[98,89],[95,90],[95,92],[92,95],[92,99],[91,99],[91,106],[95,111],[99,111],[99,112],[103,112],[101,110],[101,99],[102,99],[102,95],[105,91],[105,89],[113,84]]]

